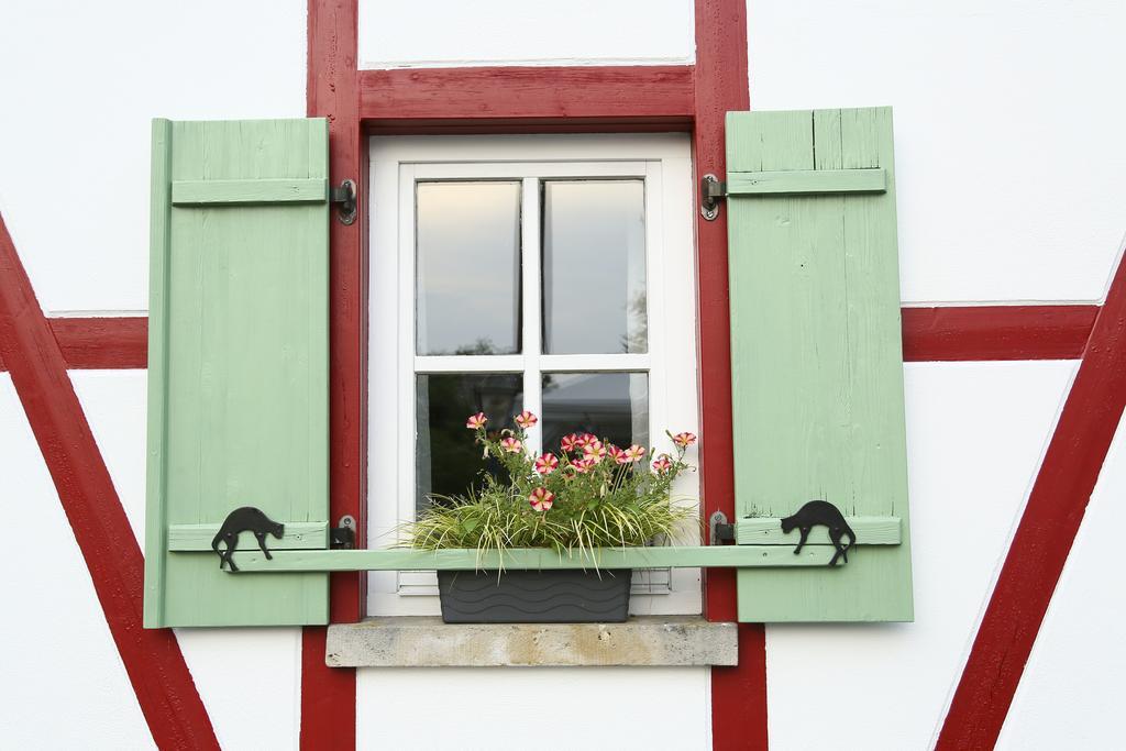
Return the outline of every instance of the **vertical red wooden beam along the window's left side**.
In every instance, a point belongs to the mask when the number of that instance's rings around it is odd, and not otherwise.
[[[309,0],[309,79],[311,117],[329,118],[329,172],[333,185],[352,179],[366,205],[367,149],[360,132],[357,90],[357,0]],[[365,424],[367,361],[367,216],[355,224],[332,220],[329,241],[329,518],[349,515],[366,529]],[[357,540],[364,545],[364,536]],[[333,623],[365,615],[365,576],[333,573],[330,616]],[[301,748],[356,748],[356,671],[324,664],[323,627],[305,628],[302,638]]]

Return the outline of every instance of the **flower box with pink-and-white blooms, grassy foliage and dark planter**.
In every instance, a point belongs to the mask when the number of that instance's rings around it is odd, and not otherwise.
[[[477,556],[518,548],[582,555],[605,547],[644,549],[691,526],[694,507],[673,503],[677,475],[689,468],[685,452],[696,436],[668,433],[672,454],[654,455],[632,445],[619,448],[592,433],[572,433],[557,454],[530,453],[528,429],[538,418],[524,411],[517,428],[488,430],[476,413],[465,427],[504,468],[503,480],[481,475],[465,495],[437,502],[406,525],[409,546],[441,552],[475,551]],[[438,571],[446,623],[623,623],[629,613],[627,567]]]

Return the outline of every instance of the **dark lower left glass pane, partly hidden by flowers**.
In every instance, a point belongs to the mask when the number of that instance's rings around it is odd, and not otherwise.
[[[415,381],[415,509],[429,497],[461,495],[483,470],[500,465],[481,458],[481,447],[465,427],[471,414],[489,415],[489,431],[512,427],[524,406],[520,374],[419,374]]]

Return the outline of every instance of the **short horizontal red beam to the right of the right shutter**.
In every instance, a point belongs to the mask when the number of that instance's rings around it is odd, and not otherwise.
[[[903,359],[1079,359],[1098,305],[904,307]]]

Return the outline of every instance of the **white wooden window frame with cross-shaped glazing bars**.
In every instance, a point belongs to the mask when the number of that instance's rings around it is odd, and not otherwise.
[[[544,370],[645,370],[650,444],[659,450],[671,449],[665,428],[699,432],[695,213],[686,134],[378,136],[369,140],[369,547],[390,547],[401,524],[413,518],[417,373],[524,373],[524,405],[542,414],[538,374]],[[540,354],[539,182],[552,178],[644,180],[646,352]],[[441,179],[521,181],[525,292],[519,355],[415,355],[415,182]],[[539,440],[537,426],[529,431],[528,442],[538,448]],[[694,463],[697,458],[689,454]],[[678,479],[673,492],[678,499],[698,499],[698,474]],[[631,613],[697,614],[700,599],[698,569],[637,572]],[[368,574],[369,615],[437,615],[437,600],[434,572]]]

